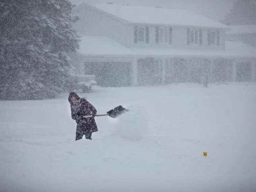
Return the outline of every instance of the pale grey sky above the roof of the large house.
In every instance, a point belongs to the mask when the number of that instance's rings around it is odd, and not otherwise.
[[[205,15],[214,20],[221,20],[232,8],[235,0],[69,0],[78,5],[87,3],[107,3],[117,4],[128,3],[130,5],[161,6],[166,8],[188,9],[198,14]]]

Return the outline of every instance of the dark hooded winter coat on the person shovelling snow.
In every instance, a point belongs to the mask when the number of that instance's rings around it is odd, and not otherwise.
[[[77,102],[71,101],[72,97],[77,98]],[[87,133],[93,133],[98,131],[94,117],[97,113],[95,107],[89,103],[86,99],[80,98],[76,93],[71,92],[68,97],[68,101],[71,107],[71,118],[76,121],[76,139],[79,135],[86,135]],[[93,117],[85,118],[83,116],[92,115]]]

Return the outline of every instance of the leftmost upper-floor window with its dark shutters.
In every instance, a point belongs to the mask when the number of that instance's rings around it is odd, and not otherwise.
[[[134,43],[149,43],[148,26],[134,26]]]

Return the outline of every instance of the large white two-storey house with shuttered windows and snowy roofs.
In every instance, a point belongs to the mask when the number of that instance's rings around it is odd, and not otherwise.
[[[255,81],[256,49],[229,27],[186,10],[82,3],[75,66],[102,86]]]

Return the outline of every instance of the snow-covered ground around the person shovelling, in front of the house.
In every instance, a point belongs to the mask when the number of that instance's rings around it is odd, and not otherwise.
[[[256,84],[93,87],[93,140],[68,93],[0,101],[0,191],[256,191]],[[208,152],[204,157],[202,152]]]

